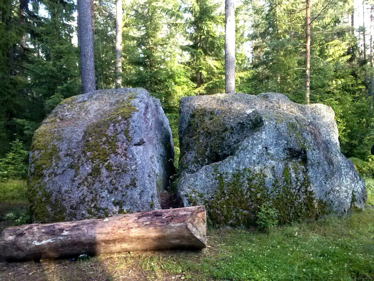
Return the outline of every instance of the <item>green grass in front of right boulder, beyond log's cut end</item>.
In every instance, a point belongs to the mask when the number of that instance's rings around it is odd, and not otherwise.
[[[143,269],[192,280],[373,280],[374,209],[274,229],[211,230],[202,253],[147,257]],[[150,266],[151,265],[151,266]]]

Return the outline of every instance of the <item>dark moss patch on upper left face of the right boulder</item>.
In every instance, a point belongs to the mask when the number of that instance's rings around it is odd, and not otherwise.
[[[243,121],[243,118],[249,120]],[[233,155],[235,145],[243,137],[258,131],[262,125],[263,120],[257,115],[243,117],[223,109],[195,109],[191,112],[186,136],[181,144],[179,170],[192,173],[199,167]],[[187,151],[193,153],[192,163],[186,158]]]

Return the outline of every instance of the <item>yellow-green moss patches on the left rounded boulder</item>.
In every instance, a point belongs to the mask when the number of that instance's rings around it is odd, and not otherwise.
[[[110,162],[110,158],[113,154],[118,153],[117,135],[120,132],[124,133],[128,142],[131,141],[129,119],[136,110],[135,106],[132,105],[133,99],[133,96],[129,96],[127,99],[122,100],[114,106],[115,109],[112,112],[108,112],[107,117],[92,122],[85,128],[82,137],[81,157],[74,160],[68,167],[69,169],[75,169],[73,181],[78,180],[78,188],[93,186],[95,182],[100,181],[104,170],[110,174],[126,172],[125,167],[115,166]],[[63,104],[70,104],[74,101],[75,99],[65,100]],[[74,110],[74,108],[71,110]],[[57,200],[58,196],[56,197],[50,193],[44,182],[47,176],[52,177],[54,175],[55,164],[60,160],[61,151],[56,143],[63,140],[61,140],[62,135],[61,129],[58,127],[59,124],[54,120],[55,118],[48,118],[47,123],[36,131],[31,146],[31,151],[33,151],[30,163],[32,172],[28,181],[28,196],[34,220],[42,222],[63,221],[69,215],[75,216],[74,206],[71,207],[71,210],[67,210],[61,200]],[[72,155],[65,156],[72,157]],[[124,154],[121,156],[126,157],[126,149],[124,149]],[[91,168],[91,171],[83,179],[79,179],[81,166]],[[130,184],[133,185],[132,182]],[[57,191],[54,190],[53,192]],[[110,192],[113,192],[113,190]],[[92,188],[92,200],[90,204],[93,207],[89,209],[89,215],[97,216],[102,214],[105,216],[105,214],[108,214],[107,210],[97,206],[99,204],[96,203],[101,200],[101,194],[99,194],[99,191],[95,191],[94,188]],[[67,211],[69,214],[67,214]],[[123,210],[123,212],[126,211]]]

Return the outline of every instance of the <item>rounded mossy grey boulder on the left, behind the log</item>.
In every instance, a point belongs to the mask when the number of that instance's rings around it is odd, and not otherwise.
[[[137,89],[64,100],[30,152],[34,220],[55,222],[160,209],[174,148],[160,101]]]

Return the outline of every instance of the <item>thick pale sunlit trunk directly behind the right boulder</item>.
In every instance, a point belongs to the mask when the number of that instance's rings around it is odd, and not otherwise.
[[[235,9],[225,0],[225,92],[235,93]]]

